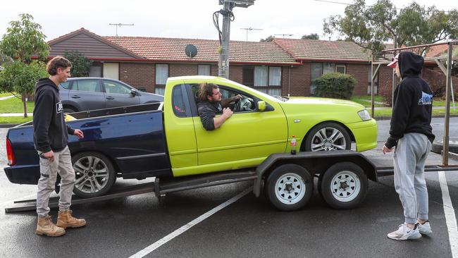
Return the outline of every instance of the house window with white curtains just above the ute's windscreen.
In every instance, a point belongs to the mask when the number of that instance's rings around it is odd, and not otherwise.
[[[273,96],[281,95],[281,67],[246,66],[242,75],[244,85]]]

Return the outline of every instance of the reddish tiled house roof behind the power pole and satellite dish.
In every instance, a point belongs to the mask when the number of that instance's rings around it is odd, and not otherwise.
[[[151,60],[218,62],[218,40],[161,37],[104,37],[104,39]],[[197,55],[192,59],[185,54],[187,44],[197,47]],[[231,41],[229,61],[297,64],[289,54],[273,42]]]

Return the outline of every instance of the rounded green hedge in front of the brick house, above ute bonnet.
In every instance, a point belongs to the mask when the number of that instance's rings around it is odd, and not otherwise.
[[[349,99],[352,97],[357,79],[343,73],[325,73],[312,81],[316,85],[316,97]]]

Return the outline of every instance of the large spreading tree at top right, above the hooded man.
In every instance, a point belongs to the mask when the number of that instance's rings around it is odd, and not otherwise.
[[[345,16],[325,19],[323,30],[326,34],[338,32],[377,56],[385,48],[383,42],[414,46],[457,38],[458,11],[439,11],[413,2],[398,12],[390,0],[378,0],[373,6],[354,0],[345,8]]]

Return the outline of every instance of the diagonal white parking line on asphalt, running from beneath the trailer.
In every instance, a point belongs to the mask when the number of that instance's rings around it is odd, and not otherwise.
[[[219,204],[217,207],[214,207],[213,209],[207,211],[206,213],[202,214],[201,216],[197,217],[197,219],[194,219],[190,223],[187,223],[185,226],[182,226],[181,228],[178,228],[176,231],[173,231],[172,233],[166,235],[164,238],[154,242],[154,244],[149,245],[149,247],[144,248],[144,250],[141,250],[140,252],[137,252],[136,254],[133,254],[130,258],[140,258],[144,257],[145,255],[149,254],[150,252],[153,252],[157,248],[159,248],[161,245],[165,244],[166,242],[172,240],[173,238],[177,237],[178,235],[181,235],[182,233],[185,233],[188,229],[192,228],[192,226],[197,225],[198,223],[204,221],[205,219],[209,218],[209,216],[215,214],[216,212],[220,211],[221,209],[224,209],[227,207],[229,204],[232,204],[233,202],[237,201],[238,199],[244,197],[247,195],[247,193],[252,191],[252,187],[248,188],[247,190],[240,192],[240,194],[235,195],[234,197],[228,199],[227,201],[223,202],[222,204]]]

